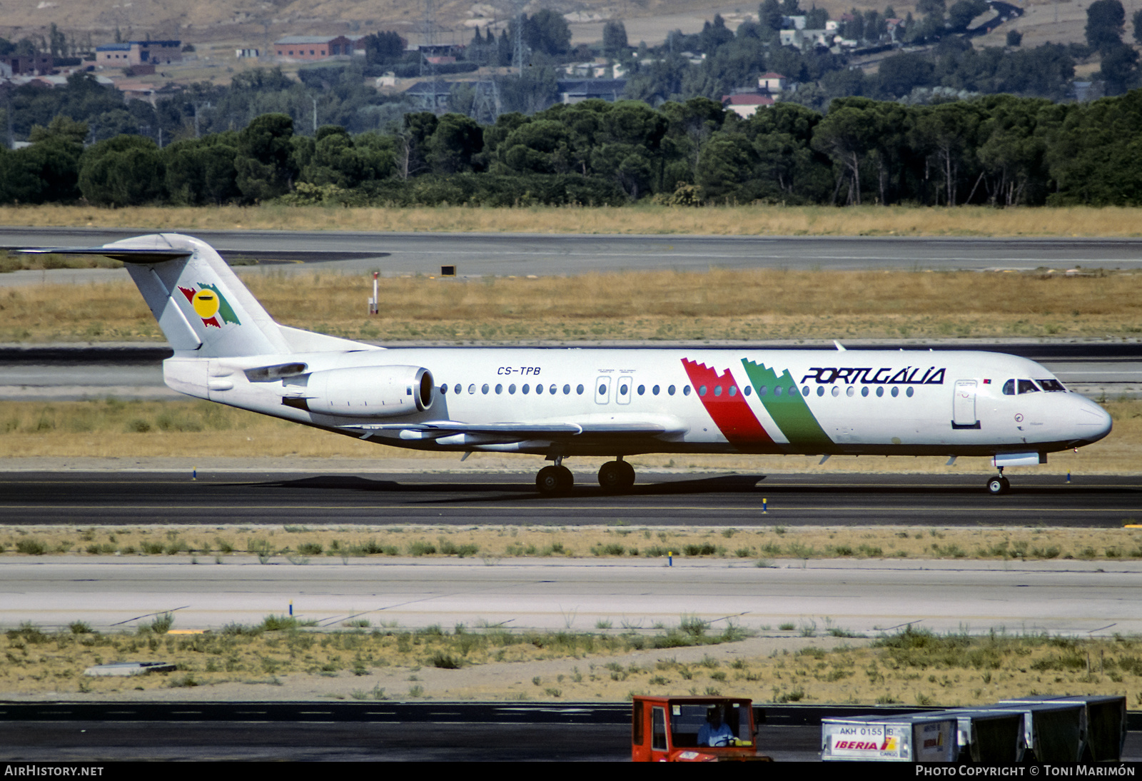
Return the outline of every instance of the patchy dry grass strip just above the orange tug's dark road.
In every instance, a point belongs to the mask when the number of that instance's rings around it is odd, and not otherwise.
[[[724,654],[706,654],[699,660],[691,653],[678,661],[661,651],[637,654],[634,658],[638,661],[630,661],[630,655],[618,661],[616,654],[700,643],[707,639],[709,626],[691,620],[648,636],[638,631],[512,634],[464,627],[456,631],[381,627],[313,633],[282,623],[281,618],[267,617],[263,627],[227,627],[191,636],[158,634],[148,627],[100,634],[82,623],[73,625],[71,633],[46,634],[24,625],[7,633],[0,691],[107,697],[136,689],[193,689],[230,682],[274,685],[281,684],[279,676],[307,673],[354,682],[356,687],[347,692],[354,699],[407,700],[432,697],[418,682],[435,681],[434,668],[497,662],[520,667],[518,662],[540,659],[573,661],[565,666],[566,674],[534,676],[530,682],[508,676],[500,678],[498,686],[475,691],[465,691],[461,670],[444,684],[447,697],[620,701],[635,693],[721,694],[749,697],[755,702],[955,707],[1028,694],[1121,694],[1139,692],[1142,684],[1142,642],[1121,636],[1073,639],[906,631],[871,644],[855,641],[853,645],[860,647],[841,644],[827,651],[810,641],[794,653],[739,655],[732,661]],[[799,629],[803,635],[814,631],[845,635],[842,627],[831,625]],[[740,633],[731,629],[709,639],[731,641],[735,636]],[[175,662],[178,671],[128,679],[82,676],[88,666],[120,660]],[[346,699],[345,693],[329,695]],[[1142,704],[1142,695],[1135,693],[1128,704]]]

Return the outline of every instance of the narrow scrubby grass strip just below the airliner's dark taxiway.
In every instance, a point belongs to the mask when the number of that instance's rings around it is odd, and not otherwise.
[[[1124,518],[1124,521],[1133,521]],[[1142,516],[1137,518],[1142,521]],[[6,526],[6,556],[907,558],[1120,561],[1142,558],[1142,530],[879,526]]]

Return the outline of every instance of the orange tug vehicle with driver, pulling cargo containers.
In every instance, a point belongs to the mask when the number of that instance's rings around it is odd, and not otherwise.
[[[634,762],[772,762],[757,752],[750,700],[635,695],[630,727]]]

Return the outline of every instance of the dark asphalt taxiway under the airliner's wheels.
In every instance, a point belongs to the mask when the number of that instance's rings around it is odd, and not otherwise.
[[[574,461],[569,460],[574,469]],[[594,474],[542,498],[531,473],[8,473],[0,523],[123,524],[914,525],[1117,528],[1142,521],[1142,480],[1012,470],[992,497],[982,475],[677,474],[644,472],[606,494]]]

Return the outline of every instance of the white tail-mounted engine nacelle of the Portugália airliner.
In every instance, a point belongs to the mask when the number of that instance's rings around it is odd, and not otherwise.
[[[357,367],[309,375],[311,412],[384,418],[432,406],[432,372],[423,367]]]

